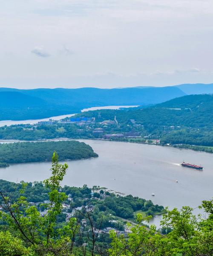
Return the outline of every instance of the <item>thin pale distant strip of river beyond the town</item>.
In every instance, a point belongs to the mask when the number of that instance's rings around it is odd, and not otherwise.
[[[86,111],[94,111],[98,109],[119,109],[119,108],[134,108],[138,106],[104,106],[104,107],[92,107],[92,108],[84,108],[82,109],[81,112],[86,112]],[[75,116],[76,114],[66,114],[66,115],[61,115],[61,116],[51,116],[43,119],[28,119],[28,120],[2,120],[0,121],[0,127],[1,126],[9,126],[9,125],[21,125],[21,124],[36,124],[39,121],[48,121],[49,119],[53,120],[60,120],[66,117],[71,117]]]

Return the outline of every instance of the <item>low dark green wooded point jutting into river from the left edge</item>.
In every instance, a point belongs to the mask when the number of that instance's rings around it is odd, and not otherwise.
[[[58,152],[61,161],[98,157],[89,145],[78,141],[5,143],[0,144],[0,167],[9,163],[51,161],[53,151]]]

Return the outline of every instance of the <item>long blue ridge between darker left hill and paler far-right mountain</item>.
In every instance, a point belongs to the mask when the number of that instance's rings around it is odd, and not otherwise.
[[[80,108],[106,105],[147,105],[157,104],[169,99],[184,96],[177,87],[144,87],[144,88],[121,88],[121,89],[32,89],[18,90],[0,88],[0,92],[19,92],[27,96],[33,96],[45,100],[51,105],[76,106]]]

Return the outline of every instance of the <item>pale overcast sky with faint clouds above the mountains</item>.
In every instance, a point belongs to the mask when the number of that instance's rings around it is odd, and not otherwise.
[[[213,82],[212,0],[0,0],[0,87]]]

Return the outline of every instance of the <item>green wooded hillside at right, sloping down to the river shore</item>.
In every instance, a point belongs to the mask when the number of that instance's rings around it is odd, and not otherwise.
[[[78,116],[93,116],[97,122],[116,116],[119,125],[111,133],[134,130],[161,143],[213,146],[213,95],[189,95],[150,108],[89,111]]]

